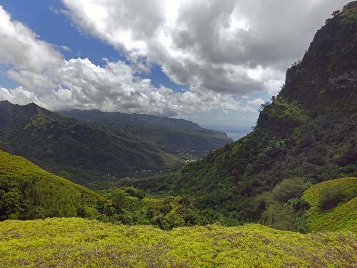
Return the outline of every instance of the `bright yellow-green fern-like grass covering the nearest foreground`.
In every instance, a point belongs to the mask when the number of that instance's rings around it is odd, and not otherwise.
[[[357,233],[258,224],[163,231],[82,218],[0,222],[1,267],[357,267]]]

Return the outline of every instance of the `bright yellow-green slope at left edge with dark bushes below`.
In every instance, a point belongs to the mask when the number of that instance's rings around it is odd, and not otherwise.
[[[45,172],[22,157],[0,151],[0,220],[94,217],[98,201],[107,202],[99,194]]]

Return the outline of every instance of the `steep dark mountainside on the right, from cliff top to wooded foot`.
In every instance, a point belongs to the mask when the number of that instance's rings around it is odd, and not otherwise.
[[[288,208],[294,215],[307,205],[300,200],[306,188],[291,201],[289,195],[269,200],[284,180],[308,185],[357,176],[356,69],[357,2],[351,2],[326,21],[301,62],[288,69],[281,93],[262,106],[254,131],[180,173],[128,184],[194,196],[198,208],[213,211],[212,221],[265,222],[264,212]]]

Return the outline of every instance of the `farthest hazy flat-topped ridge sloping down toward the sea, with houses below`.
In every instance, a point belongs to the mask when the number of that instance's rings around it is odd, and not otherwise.
[[[233,141],[224,132],[203,129],[198,124],[183,119],[98,110],[71,110],[59,113],[79,120],[104,123],[114,130],[120,129],[128,135],[158,145],[162,150],[180,157],[205,157],[208,151]]]

